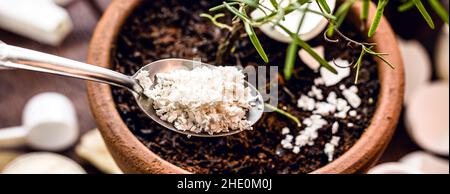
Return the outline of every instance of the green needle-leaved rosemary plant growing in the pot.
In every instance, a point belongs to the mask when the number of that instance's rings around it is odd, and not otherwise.
[[[328,64],[328,62],[321,56],[319,56],[307,42],[305,42],[298,36],[298,31],[291,32],[290,30],[288,30],[288,28],[286,28],[286,26],[281,25],[280,22],[285,19],[285,16],[287,14],[290,14],[293,11],[297,10],[302,11],[304,13],[319,14],[329,21],[328,29],[324,34],[326,41],[338,42],[339,40],[345,40],[347,41],[348,45],[356,45],[361,49],[361,53],[358,57],[358,60],[356,60],[356,63],[353,64],[357,75],[355,83],[357,83],[358,81],[362,58],[365,57],[366,55],[372,55],[374,57],[377,57],[380,60],[384,61],[391,68],[394,68],[394,65],[383,57],[385,55],[384,53],[377,53],[373,50],[373,47],[375,46],[374,44],[358,42],[349,39],[339,31],[339,28],[344,22],[346,16],[348,15],[350,8],[358,0],[343,0],[343,3],[337,8],[334,14],[332,13],[332,10],[328,6],[326,0],[315,0],[315,1],[316,1],[315,3],[319,5],[320,11],[310,10],[308,7],[305,8],[305,6],[303,6],[305,4],[309,5],[310,3],[313,3],[313,1],[311,0],[289,0],[289,1],[269,0],[271,6],[266,6],[262,4],[261,0],[224,0],[221,5],[211,8],[210,11],[214,12],[228,11],[232,15],[233,25],[228,25],[217,21],[219,18],[223,17],[225,13],[218,13],[214,16],[202,14],[202,17],[209,18],[212,21],[212,23],[214,23],[216,26],[222,29],[230,30],[233,36],[228,36],[228,38],[235,37],[233,41],[235,41],[239,37],[242,37],[238,36],[239,34],[237,34],[238,32],[237,28],[239,27],[243,28],[246,34],[248,35],[250,41],[252,42],[253,46],[255,47],[256,51],[266,63],[269,62],[269,58],[264,50],[264,47],[261,45],[261,42],[259,41],[257,34],[254,31],[254,28],[260,27],[265,24],[271,24],[274,27],[281,28],[285,33],[289,34],[289,36],[292,39],[292,43],[289,44],[286,50],[286,61],[283,70],[285,79],[289,79],[292,76],[297,57],[296,52],[298,51],[299,47],[303,48],[306,52],[308,52],[315,60],[317,60],[320,63],[322,67],[328,69],[333,73],[337,73],[337,71],[334,69],[333,66]],[[363,4],[361,8],[361,20],[363,22],[367,22],[367,20],[369,19],[370,1],[369,0],[361,0],[361,1]],[[287,5],[286,2],[288,2]],[[367,33],[368,37],[372,37],[376,33],[379,24],[381,22],[384,10],[389,2],[390,2],[389,0],[378,0],[375,16],[371,21],[371,25]],[[428,0],[428,3],[433,8],[433,10],[441,17],[441,19],[444,22],[448,23],[448,13],[445,10],[445,8],[443,8],[443,6],[440,4],[440,2],[438,0]],[[283,6],[281,6],[282,4]],[[427,10],[422,4],[422,1],[420,0],[406,0],[405,3],[401,5],[398,9],[399,11],[406,11],[413,7],[416,7],[419,10],[419,12],[425,18],[425,21],[431,28],[435,27],[429,13],[427,12]],[[250,17],[247,13],[251,13],[254,10],[261,10],[264,13],[264,15],[261,16],[260,18]],[[303,20],[303,18],[301,20]],[[337,37],[334,37],[333,36],[334,34],[336,34]],[[334,37],[335,39],[332,40],[330,37]],[[223,45],[221,44],[219,48],[221,48],[222,51],[232,50],[228,49],[229,47],[233,46],[233,44],[231,44],[230,41],[231,40],[225,40],[224,42],[226,44]],[[216,60],[218,60],[217,58],[221,58],[223,56],[224,56],[223,54],[217,55]]]

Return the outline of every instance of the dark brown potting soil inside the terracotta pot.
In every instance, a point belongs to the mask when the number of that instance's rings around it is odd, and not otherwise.
[[[212,7],[206,0],[164,0],[151,1],[141,5],[127,20],[120,32],[116,47],[113,49],[114,68],[122,73],[132,75],[142,65],[164,58],[201,58],[214,64],[219,43],[227,35],[209,20],[199,17]],[[357,28],[344,24],[343,31],[349,37],[363,40]],[[257,31],[266,48],[270,63],[284,64],[286,44],[279,43]],[[314,45],[322,44],[326,48],[326,59],[338,57],[357,58],[359,49],[351,49],[341,43],[325,42],[322,36],[310,41]],[[233,55],[225,58],[227,64],[264,65],[247,37],[234,43]],[[223,65],[223,64],[216,64]],[[301,94],[307,93],[318,77],[298,59],[295,75],[288,82],[280,78],[279,107],[286,106],[287,111],[298,118],[306,118],[311,113],[301,111],[296,106]],[[353,85],[352,75],[340,84]],[[319,86],[324,96],[335,91],[340,95],[339,85],[333,87]],[[358,95],[362,105],[357,109],[361,118],[347,117],[340,119],[337,133],[341,137],[336,147],[334,158],[342,155],[361,136],[376,109],[379,93],[377,65],[372,58],[364,58],[358,83]],[[295,95],[291,97],[286,91]],[[319,130],[319,138],[313,146],[306,146],[299,154],[284,150],[280,141],[284,138],[281,129],[288,126],[291,131],[300,131],[295,124],[277,113],[265,113],[254,126],[254,130],[245,131],[222,138],[188,138],[176,132],[164,129],[139,110],[133,96],[125,89],[113,88],[117,109],[126,125],[151,151],[163,159],[195,173],[308,173],[328,164],[323,152],[324,145],[330,141],[331,124],[337,119],[327,116],[328,125]],[[373,99],[370,103],[369,98]],[[347,123],[354,127],[348,127]]]

